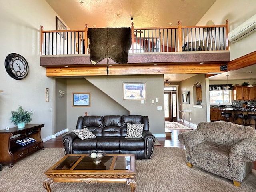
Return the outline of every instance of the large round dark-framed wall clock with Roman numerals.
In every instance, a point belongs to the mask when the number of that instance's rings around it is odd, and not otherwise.
[[[5,58],[6,72],[14,79],[20,80],[28,75],[28,62],[17,53],[11,53]]]

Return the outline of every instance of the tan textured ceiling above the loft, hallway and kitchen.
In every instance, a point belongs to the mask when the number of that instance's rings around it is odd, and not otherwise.
[[[46,0],[58,16],[72,30],[104,27],[166,27],[193,26],[204,16],[216,0]],[[80,3],[81,2],[81,3]],[[83,4],[82,4],[83,2]],[[188,16],[189,15],[189,16]],[[228,78],[256,79],[256,67],[248,67],[228,72]],[[164,74],[168,82],[180,82],[196,74]],[[253,78],[253,77],[251,77]],[[211,80],[226,80],[226,74],[212,77]]]

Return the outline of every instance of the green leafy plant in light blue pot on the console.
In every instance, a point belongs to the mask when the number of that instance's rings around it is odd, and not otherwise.
[[[11,114],[11,120],[14,125],[18,126],[18,128],[23,128],[25,127],[25,123],[30,123],[32,121],[31,116],[33,115],[33,112],[24,111],[22,106],[19,106],[17,111],[11,111]]]

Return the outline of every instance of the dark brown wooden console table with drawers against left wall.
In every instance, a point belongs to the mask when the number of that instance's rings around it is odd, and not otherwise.
[[[26,124],[24,128],[13,127],[10,130],[0,130],[0,163],[9,164],[40,150],[44,149],[41,139],[41,128],[44,124]],[[12,137],[12,138],[11,138]],[[26,137],[34,138],[36,141],[25,146],[17,144],[16,140]]]

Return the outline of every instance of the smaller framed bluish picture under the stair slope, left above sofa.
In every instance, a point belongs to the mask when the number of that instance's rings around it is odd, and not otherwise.
[[[73,107],[90,107],[91,98],[90,93],[72,93],[73,94]]]

